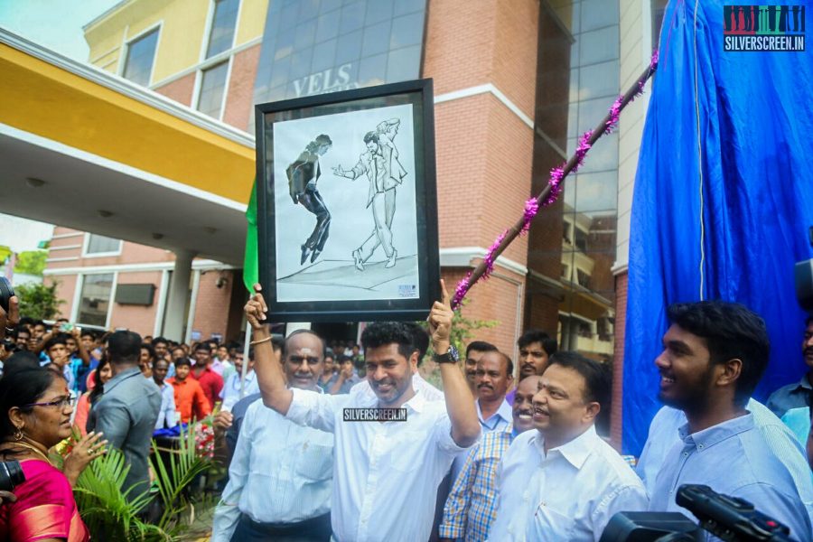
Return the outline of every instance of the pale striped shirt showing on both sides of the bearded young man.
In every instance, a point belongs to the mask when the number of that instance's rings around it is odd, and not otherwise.
[[[813,524],[813,482],[811,482],[805,449],[799,444],[790,428],[784,425],[767,406],[754,399],[749,399],[745,409],[752,413],[753,423],[762,434],[768,449],[788,469],[805,509],[808,511],[810,523]],[[652,418],[647,442],[644,444],[638,466],[635,468],[635,472],[638,472],[643,480],[649,495],[653,494],[656,477],[663,469],[668,453],[677,445],[683,446],[678,430],[686,423],[686,414],[682,410],[669,406],[661,408]]]

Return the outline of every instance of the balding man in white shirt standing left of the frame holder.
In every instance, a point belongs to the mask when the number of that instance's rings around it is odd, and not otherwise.
[[[310,330],[292,333],[284,359],[292,388],[322,393],[322,339]],[[328,542],[332,473],[332,434],[296,425],[255,401],[240,425],[211,542]]]

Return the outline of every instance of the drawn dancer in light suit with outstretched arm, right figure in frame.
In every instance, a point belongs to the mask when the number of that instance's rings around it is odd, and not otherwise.
[[[392,245],[391,228],[396,211],[396,188],[406,177],[406,169],[398,160],[397,146],[393,142],[400,122],[397,118],[385,120],[375,132],[364,135],[367,151],[360,155],[359,162],[350,170],[343,169],[341,165],[333,168],[336,175],[353,181],[364,173],[369,179],[367,207],[372,207],[375,227],[361,246],[352,252],[353,264],[360,271],[364,270],[364,263],[378,246],[383,246],[387,256],[385,267],[396,265],[397,250]]]

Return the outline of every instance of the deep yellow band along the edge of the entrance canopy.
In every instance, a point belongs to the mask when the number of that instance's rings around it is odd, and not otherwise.
[[[245,203],[254,150],[5,44],[0,118],[9,126]]]

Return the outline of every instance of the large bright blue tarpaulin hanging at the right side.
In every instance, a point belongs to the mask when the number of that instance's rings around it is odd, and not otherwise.
[[[724,299],[762,315],[771,363],[758,399],[806,369],[806,315],[796,301],[793,264],[811,257],[810,49],[724,51],[721,0],[672,0],[667,7],[632,202],[625,453],[640,453],[660,407],[653,362],[668,329],[668,304]]]

